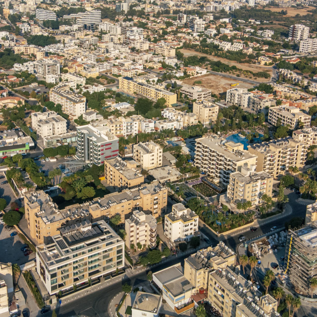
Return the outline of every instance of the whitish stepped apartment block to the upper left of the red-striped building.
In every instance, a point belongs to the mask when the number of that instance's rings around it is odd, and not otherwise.
[[[55,111],[31,113],[32,128],[42,138],[67,133],[67,120]]]

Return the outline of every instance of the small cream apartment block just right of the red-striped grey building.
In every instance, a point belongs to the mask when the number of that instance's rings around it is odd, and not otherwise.
[[[133,145],[133,159],[143,169],[149,170],[162,166],[163,150],[154,142],[140,142]]]

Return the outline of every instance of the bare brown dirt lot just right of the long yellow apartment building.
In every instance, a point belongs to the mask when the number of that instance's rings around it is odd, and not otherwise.
[[[230,79],[230,78],[225,78],[225,77],[218,76],[218,75],[212,75],[212,74],[188,78],[188,79],[183,80],[183,82],[185,84],[188,84],[188,85],[194,85],[194,82],[196,82],[196,81],[202,82],[201,84],[197,84],[197,86],[211,89],[212,93],[214,93],[214,94],[224,93],[228,89],[231,89],[231,88],[238,87],[238,88],[249,89],[249,88],[253,87],[252,84],[243,83],[241,81],[237,81],[237,80]],[[231,84],[235,84],[235,83],[239,83],[239,86],[234,86],[234,87],[230,86]]]

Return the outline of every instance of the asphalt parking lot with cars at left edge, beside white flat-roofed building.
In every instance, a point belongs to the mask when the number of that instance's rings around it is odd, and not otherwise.
[[[14,231],[16,230],[7,231],[4,225],[0,224],[0,262],[21,265],[35,259],[35,253],[31,253],[26,257],[24,256],[21,251],[24,242],[18,235],[10,237],[10,234]]]

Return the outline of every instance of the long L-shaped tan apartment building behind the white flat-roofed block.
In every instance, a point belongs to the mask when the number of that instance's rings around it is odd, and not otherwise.
[[[47,237],[58,234],[61,227],[75,225],[84,220],[107,220],[118,213],[123,222],[134,210],[150,211],[154,217],[158,217],[161,212],[166,211],[167,188],[153,182],[95,198],[83,204],[68,206],[63,210],[59,210],[52,198],[40,190],[25,194],[24,204],[31,238],[41,244]]]

